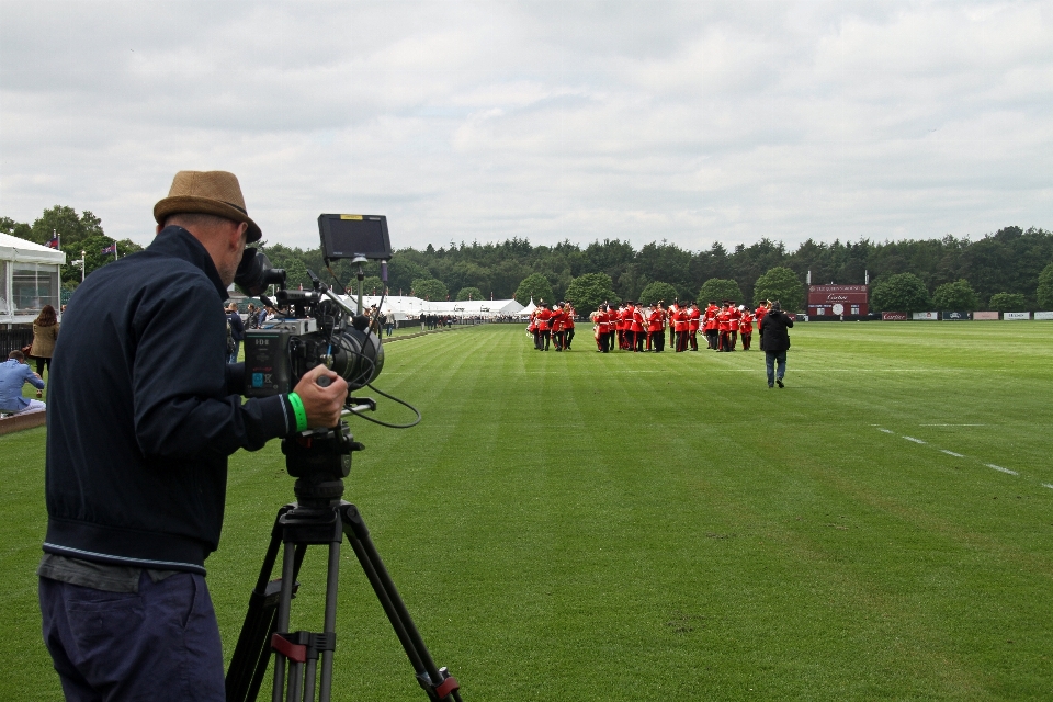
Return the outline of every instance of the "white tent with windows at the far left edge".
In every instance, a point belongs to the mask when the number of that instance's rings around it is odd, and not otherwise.
[[[44,305],[59,308],[66,254],[0,233],[0,322],[33,321]]]

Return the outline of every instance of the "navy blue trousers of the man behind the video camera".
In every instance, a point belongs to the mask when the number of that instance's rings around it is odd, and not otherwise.
[[[138,592],[41,578],[44,643],[67,702],[223,702],[223,647],[205,578],[180,573]]]

